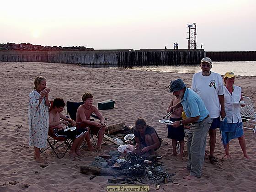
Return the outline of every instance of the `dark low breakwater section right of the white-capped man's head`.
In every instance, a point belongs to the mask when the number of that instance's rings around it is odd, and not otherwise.
[[[207,51],[213,61],[256,61],[256,51]]]

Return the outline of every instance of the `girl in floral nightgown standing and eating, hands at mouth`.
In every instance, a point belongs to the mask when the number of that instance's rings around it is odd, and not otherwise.
[[[47,146],[49,128],[48,109],[50,107],[48,94],[50,89],[46,87],[46,79],[44,77],[36,77],[34,84],[34,91],[29,94],[29,146],[34,146],[34,158],[37,162],[47,163],[40,156],[40,148]]]

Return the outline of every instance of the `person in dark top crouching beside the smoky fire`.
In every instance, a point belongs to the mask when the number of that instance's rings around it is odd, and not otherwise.
[[[155,155],[155,150],[159,149],[162,144],[155,128],[147,125],[141,117],[135,121],[133,134],[136,142],[133,153],[146,156]]]

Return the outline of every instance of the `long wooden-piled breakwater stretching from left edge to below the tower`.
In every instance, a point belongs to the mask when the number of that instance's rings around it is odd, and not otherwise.
[[[92,65],[198,64],[203,50],[56,50],[0,51],[0,62],[34,61]]]

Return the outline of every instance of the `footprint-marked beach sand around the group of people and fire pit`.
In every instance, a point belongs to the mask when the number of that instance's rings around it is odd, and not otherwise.
[[[232,68],[230,68],[232,70]],[[249,70],[249,69],[248,69]],[[108,118],[108,125],[124,121],[133,125],[137,117],[143,117],[163,139],[157,151],[168,172],[176,173],[174,181],[161,184],[159,191],[256,191],[256,134],[244,129],[247,152],[251,160],[243,157],[238,139],[230,142],[232,160],[224,160],[224,148],[217,131],[215,156],[217,165],[206,159],[200,179],[185,180],[187,172],[179,169],[186,165],[184,160],[171,157],[171,139],[166,138],[166,128],[158,120],[173,97],[167,86],[171,80],[181,78],[191,86],[193,74],[138,71],[125,69],[86,68],[72,64],[15,62],[0,63],[0,191],[106,191],[107,180],[113,176],[96,176],[80,173],[80,165],[88,165],[97,152],[81,149],[83,157],[73,160],[69,155],[62,159],[48,150],[42,154],[49,165],[41,167],[33,160],[33,147],[28,146],[28,96],[33,89],[36,76],[46,77],[51,89],[49,98],[64,98],[64,101],[81,101],[85,92],[94,95],[97,102],[111,99],[115,107],[101,113]],[[251,97],[256,108],[256,77],[239,76],[235,85],[242,87],[243,94]],[[65,114],[66,110],[64,110]],[[7,117],[5,120],[3,117]],[[107,153],[112,146],[102,146]],[[207,141],[206,151],[209,152]],[[150,185],[150,191],[157,191]]]

